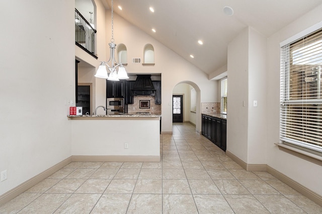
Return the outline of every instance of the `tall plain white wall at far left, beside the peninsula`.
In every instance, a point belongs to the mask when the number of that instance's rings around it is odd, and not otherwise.
[[[0,195],[70,157],[74,2],[1,1]],[[58,15],[57,15],[58,12]]]

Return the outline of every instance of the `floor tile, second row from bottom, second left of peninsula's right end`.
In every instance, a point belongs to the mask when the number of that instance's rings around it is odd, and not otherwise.
[[[111,193],[133,193],[136,180],[134,179],[114,179],[111,181],[104,194]]]

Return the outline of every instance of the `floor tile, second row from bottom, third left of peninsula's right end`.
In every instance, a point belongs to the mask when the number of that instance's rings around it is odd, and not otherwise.
[[[89,179],[85,181],[75,193],[103,193],[110,184],[111,179]]]

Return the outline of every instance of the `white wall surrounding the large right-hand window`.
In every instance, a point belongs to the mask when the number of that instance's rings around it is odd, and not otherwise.
[[[280,42],[321,22],[322,5],[295,20],[268,39],[267,72],[267,164],[322,195],[322,167],[288,153],[282,152],[274,143],[279,142],[279,81]]]

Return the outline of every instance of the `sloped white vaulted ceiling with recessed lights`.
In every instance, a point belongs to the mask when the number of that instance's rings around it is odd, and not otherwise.
[[[111,0],[102,1],[111,7]],[[269,37],[320,4],[322,0],[114,0],[113,8],[114,13],[211,74],[227,63],[228,43],[247,26]],[[233,9],[233,16],[223,13],[225,6]],[[203,45],[197,43],[199,39]]]

